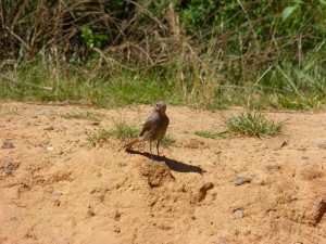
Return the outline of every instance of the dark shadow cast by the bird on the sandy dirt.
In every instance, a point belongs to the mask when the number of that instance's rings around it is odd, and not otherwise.
[[[138,152],[138,151],[135,151],[131,149],[126,150],[126,152],[128,152],[130,154],[139,154],[139,155],[142,155],[142,156],[146,156],[146,157],[152,159],[150,153],[146,153],[146,152],[142,153],[142,152]],[[177,172],[198,172],[200,175],[203,174],[203,169],[199,166],[187,165],[183,162],[171,159],[165,156],[153,155],[153,160],[164,162],[171,170],[174,170]]]

